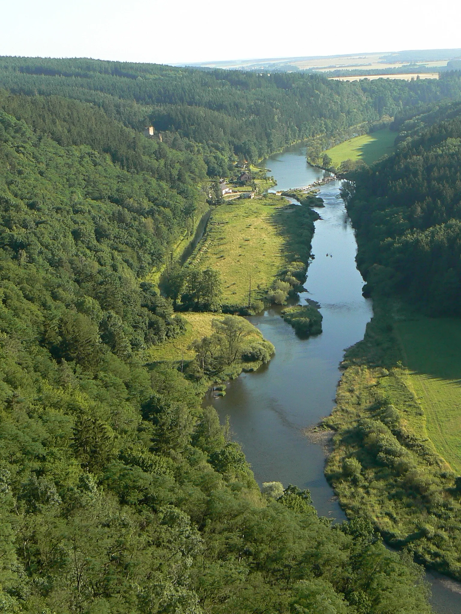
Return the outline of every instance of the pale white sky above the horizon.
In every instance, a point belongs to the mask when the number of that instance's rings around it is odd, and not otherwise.
[[[0,0],[0,55],[173,64],[451,49],[460,23],[460,0]]]

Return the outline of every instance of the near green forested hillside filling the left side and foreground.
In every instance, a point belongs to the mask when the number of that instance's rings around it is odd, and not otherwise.
[[[79,101],[1,106],[1,612],[430,612],[416,565],[309,492],[262,495],[193,378],[145,364],[183,332],[142,279],[202,157]]]

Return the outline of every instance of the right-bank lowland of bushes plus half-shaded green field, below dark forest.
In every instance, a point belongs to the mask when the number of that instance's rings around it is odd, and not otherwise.
[[[345,354],[325,473],[349,518],[461,580],[461,322],[395,320],[375,300],[364,340]],[[401,361],[401,362],[399,362]]]

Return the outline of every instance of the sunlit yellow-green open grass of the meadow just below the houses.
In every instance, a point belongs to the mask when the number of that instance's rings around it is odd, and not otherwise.
[[[207,231],[187,263],[210,266],[221,273],[223,301],[246,305],[251,276],[251,298],[262,297],[286,265],[282,236],[283,196],[238,200],[220,205],[208,220]],[[290,214],[285,209],[283,215]]]

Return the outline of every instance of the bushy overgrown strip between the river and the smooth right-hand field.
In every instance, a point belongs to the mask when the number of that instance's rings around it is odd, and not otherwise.
[[[347,351],[326,477],[349,518],[364,518],[392,546],[461,580],[461,478],[428,437],[401,362],[396,305],[376,301],[364,340]]]

